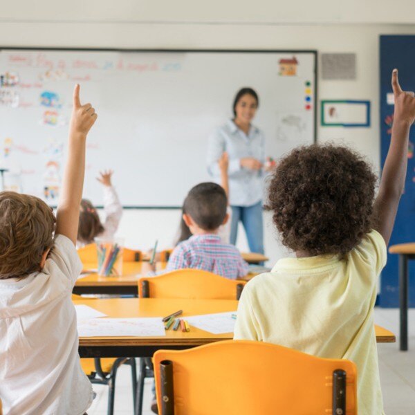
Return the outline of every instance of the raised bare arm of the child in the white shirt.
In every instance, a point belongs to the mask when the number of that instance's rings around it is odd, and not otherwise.
[[[68,158],[57,208],[56,234],[62,234],[76,245],[82,187],[85,172],[86,135],[97,119],[91,104],[81,105],[80,86],[73,91],[73,109],[69,126]]]

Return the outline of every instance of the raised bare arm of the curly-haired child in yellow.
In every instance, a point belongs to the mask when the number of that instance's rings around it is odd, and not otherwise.
[[[400,89],[396,69],[392,72],[392,89],[395,97],[395,111],[391,144],[374,205],[378,221],[375,229],[385,239],[386,245],[389,243],[394,228],[400,196],[405,187],[409,129],[415,120],[414,93],[404,92]]]

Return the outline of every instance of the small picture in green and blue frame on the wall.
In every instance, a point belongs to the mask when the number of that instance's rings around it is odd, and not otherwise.
[[[322,127],[370,127],[370,101],[322,100]]]

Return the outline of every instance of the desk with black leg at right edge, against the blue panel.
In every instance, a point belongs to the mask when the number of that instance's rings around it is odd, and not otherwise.
[[[399,349],[408,349],[408,261],[415,259],[415,243],[400,243],[389,247],[389,253],[399,255]]]

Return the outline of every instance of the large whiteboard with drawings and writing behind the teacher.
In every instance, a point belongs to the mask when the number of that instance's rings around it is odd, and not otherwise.
[[[98,113],[84,197],[101,205],[95,177],[113,169],[125,207],[180,206],[190,187],[212,180],[208,138],[232,118],[243,86],[259,94],[254,123],[265,133],[267,156],[314,142],[315,66],[314,51],[1,49],[6,187],[56,204],[73,85],[80,83],[82,103]]]

